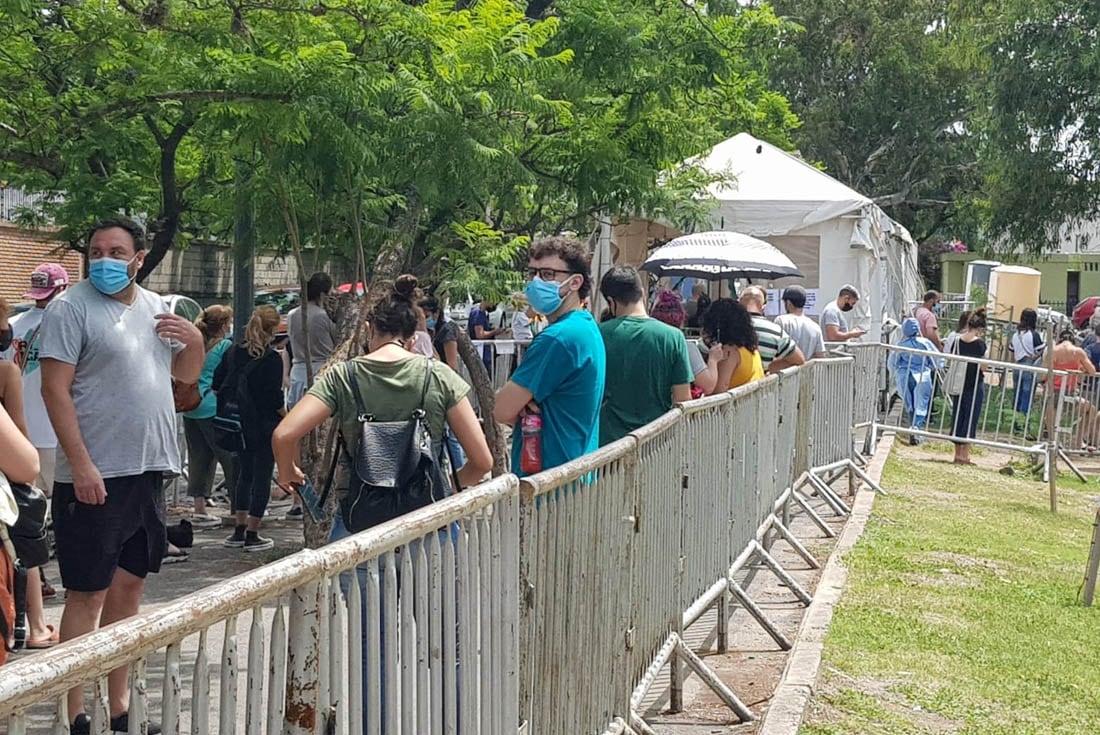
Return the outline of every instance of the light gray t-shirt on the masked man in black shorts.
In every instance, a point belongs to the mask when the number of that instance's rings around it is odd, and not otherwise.
[[[51,301],[42,317],[38,358],[76,368],[73,403],[88,454],[105,478],[179,472],[172,358],[182,349],[156,333],[164,299],[138,286],[127,306],[88,281]],[[73,482],[64,450],[57,482]]]

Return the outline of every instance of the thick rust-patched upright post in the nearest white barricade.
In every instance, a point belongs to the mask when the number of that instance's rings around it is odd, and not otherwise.
[[[290,592],[283,735],[311,735],[317,729],[321,673],[321,582],[308,582]]]

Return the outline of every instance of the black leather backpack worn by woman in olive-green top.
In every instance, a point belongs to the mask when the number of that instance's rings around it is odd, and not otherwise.
[[[425,359],[420,407],[404,421],[376,421],[359,390],[352,361],[344,363],[355,397],[360,436],[349,453],[351,483],[340,502],[344,526],[356,534],[372,526],[425,507],[447,495],[448,483],[431,450],[424,409],[435,360]],[[344,446],[349,442],[344,438]],[[327,493],[328,491],[326,491]],[[321,498],[323,506],[324,497]]]

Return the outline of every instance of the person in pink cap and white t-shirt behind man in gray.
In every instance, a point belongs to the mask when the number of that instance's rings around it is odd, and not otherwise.
[[[54,487],[54,463],[57,435],[50,424],[46,404],[42,401],[42,371],[38,365],[38,342],[42,315],[54,297],[68,288],[68,273],[61,263],[43,263],[31,273],[31,289],[23,298],[34,299],[34,308],[11,319],[12,344],[4,353],[23,372],[23,416],[31,443],[38,450],[37,485],[47,494]]]

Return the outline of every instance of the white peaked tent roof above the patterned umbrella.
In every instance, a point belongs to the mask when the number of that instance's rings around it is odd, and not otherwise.
[[[756,237],[787,234],[871,205],[871,200],[770,143],[739,133],[693,161],[728,176],[712,184],[717,229]]]

